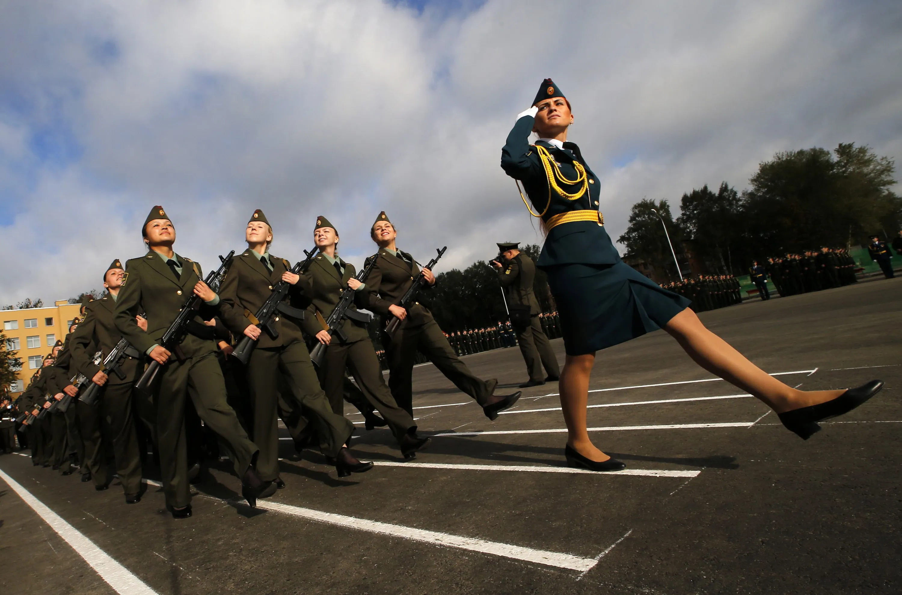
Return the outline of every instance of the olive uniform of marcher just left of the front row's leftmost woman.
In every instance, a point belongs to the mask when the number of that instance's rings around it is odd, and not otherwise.
[[[79,373],[87,376],[88,383],[101,371],[101,366],[92,362],[94,353],[100,350],[106,357],[122,338],[114,325],[114,311],[115,299],[109,294],[94,300],[87,305],[85,319],[72,334],[72,362]],[[112,479],[101,438],[101,420],[106,420],[106,429],[113,441],[116,473],[125,493],[131,495],[141,490],[141,455],[134,428],[132,398],[140,354],[134,348],[129,350],[118,373],[106,371],[108,378],[95,404],[87,405],[80,399],[76,404],[81,437],[85,442],[83,466],[91,471],[97,486],[107,485]],[[85,389],[87,385],[82,387]]]

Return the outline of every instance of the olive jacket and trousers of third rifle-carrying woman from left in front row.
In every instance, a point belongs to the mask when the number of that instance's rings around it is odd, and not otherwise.
[[[322,319],[331,316],[342,291],[347,288],[348,279],[354,277],[356,273],[353,264],[348,264],[340,258],[336,264],[344,270],[336,269],[323,255],[319,255],[310,264],[308,277],[312,284],[310,294],[312,303],[308,307],[308,316],[304,318],[304,330],[311,336],[327,330],[327,326],[323,325],[316,315],[319,314]],[[356,292],[354,300],[361,307],[365,307],[366,289],[362,288]],[[352,305],[349,309],[356,309],[356,305]],[[344,415],[345,368],[350,368],[364,397],[379,410],[391,428],[391,433],[400,441],[410,428],[416,428],[417,424],[410,413],[398,407],[398,403],[391,396],[391,390],[385,384],[382,366],[379,365],[379,358],[376,357],[376,350],[373,348],[366,326],[345,318],[340,328],[347,341],[342,342],[337,333],[332,334],[323,366],[326,395],[332,410],[338,415]]]

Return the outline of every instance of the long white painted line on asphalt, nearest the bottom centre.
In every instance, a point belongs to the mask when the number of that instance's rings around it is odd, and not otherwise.
[[[579,572],[591,570],[594,565],[598,563],[598,560],[594,558],[583,558],[573,554],[536,550],[531,547],[521,547],[520,545],[502,544],[500,542],[486,541],[476,537],[464,537],[451,535],[449,533],[439,533],[437,531],[427,531],[411,526],[391,525],[390,523],[381,523],[365,518],[345,517],[345,515],[321,512],[319,510],[313,510],[312,508],[290,506],[271,500],[257,500],[257,508],[265,508],[294,517],[308,518],[329,525],[345,526],[351,529],[368,531],[384,536],[401,537],[402,539],[410,539],[411,541],[419,541],[433,545],[446,545],[447,547],[456,547],[471,552],[492,554],[504,558],[545,564],[547,566],[556,566],[557,568],[566,568],[568,570]]]

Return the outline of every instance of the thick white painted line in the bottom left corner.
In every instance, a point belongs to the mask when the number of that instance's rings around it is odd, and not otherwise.
[[[132,572],[129,572],[122,564],[116,562],[107,555],[106,552],[97,547],[97,545],[94,545],[94,542],[86,536],[83,536],[78,532],[78,529],[69,525],[69,523],[64,521],[60,515],[45,506],[41,500],[32,496],[32,493],[25,490],[17,481],[3,471],[0,471],[0,478],[8,483],[15,493],[19,494],[19,497],[22,498],[28,506],[32,507],[32,510],[34,510],[39,517],[43,518],[67,544],[71,545],[76,554],[84,558],[85,562],[90,564],[91,568],[93,568],[95,572],[100,575],[100,578],[106,581],[106,584],[112,587],[115,592],[121,593],[121,595],[156,595],[157,591],[152,590],[141,579],[132,574]]]

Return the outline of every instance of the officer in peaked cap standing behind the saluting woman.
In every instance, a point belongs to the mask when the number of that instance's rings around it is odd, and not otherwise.
[[[538,387],[548,381],[557,380],[560,368],[557,366],[555,352],[548,343],[548,335],[542,330],[538,315],[536,294],[532,290],[532,281],[536,278],[536,263],[529,256],[520,252],[519,242],[499,243],[499,257],[502,261],[491,261],[490,264],[498,273],[498,280],[507,296],[508,308],[511,310],[511,323],[520,342],[520,352],[529,371],[529,381],[520,385],[521,389]],[[542,374],[545,367],[547,376]]]

